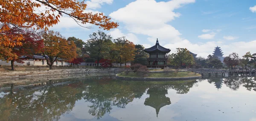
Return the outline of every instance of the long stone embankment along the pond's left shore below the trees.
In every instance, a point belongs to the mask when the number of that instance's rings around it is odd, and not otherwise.
[[[123,68],[81,68],[34,71],[0,72],[0,85],[12,83],[44,82],[52,79],[68,79],[89,76],[114,76],[123,71]]]

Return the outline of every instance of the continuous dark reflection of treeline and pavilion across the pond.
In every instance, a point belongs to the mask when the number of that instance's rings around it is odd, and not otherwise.
[[[111,76],[54,80],[2,90],[0,121],[58,121],[61,116],[70,114],[78,101],[87,105],[87,109],[84,109],[86,112],[79,111],[92,115],[96,120],[110,115],[116,109],[125,109],[128,104],[136,104],[139,100],[143,100],[144,106],[153,107],[156,112],[154,116],[159,117],[160,113],[164,113],[160,111],[161,108],[163,110],[163,107],[175,105],[171,103],[173,98],[170,96],[175,93],[186,96],[191,89],[204,84],[202,82],[211,84],[219,91],[223,87],[236,91],[244,87],[247,91],[256,91],[254,77],[219,77],[180,84],[126,82]]]

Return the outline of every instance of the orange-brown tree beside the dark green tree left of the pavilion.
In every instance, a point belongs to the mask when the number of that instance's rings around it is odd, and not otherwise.
[[[119,37],[114,40],[114,42],[119,46],[119,62],[125,63],[134,60],[134,52],[136,51],[133,42],[128,41],[125,37]]]

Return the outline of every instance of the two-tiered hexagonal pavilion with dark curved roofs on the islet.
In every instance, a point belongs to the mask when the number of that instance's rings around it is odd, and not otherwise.
[[[149,54],[149,58],[147,58],[148,68],[165,68],[167,66],[166,54],[171,50],[159,45],[158,39],[156,45],[146,48],[144,51]]]

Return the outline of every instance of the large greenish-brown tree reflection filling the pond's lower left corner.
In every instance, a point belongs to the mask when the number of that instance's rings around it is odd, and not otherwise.
[[[74,107],[81,91],[52,84],[39,90],[21,90],[0,98],[0,121],[57,121]]]

